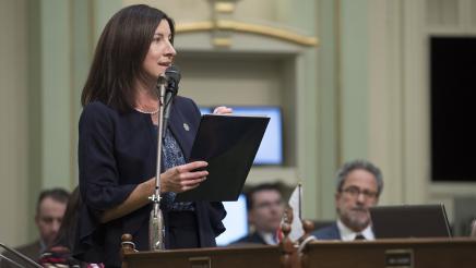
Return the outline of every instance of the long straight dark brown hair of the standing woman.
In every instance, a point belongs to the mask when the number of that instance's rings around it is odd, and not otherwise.
[[[158,9],[130,5],[109,20],[97,42],[81,95],[83,106],[99,100],[120,111],[133,107],[134,82],[147,77],[142,63],[162,20],[168,21],[174,41],[174,21]]]

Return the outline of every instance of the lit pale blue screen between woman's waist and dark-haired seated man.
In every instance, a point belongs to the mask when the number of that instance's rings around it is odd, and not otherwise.
[[[223,220],[226,231],[216,237],[216,244],[219,246],[228,245],[248,234],[247,200],[245,194],[240,194],[238,200],[224,202],[223,205],[227,212]]]

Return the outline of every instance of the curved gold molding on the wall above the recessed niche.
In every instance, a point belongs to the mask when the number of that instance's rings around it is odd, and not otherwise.
[[[319,45],[317,37],[309,37],[296,34],[291,31],[276,28],[265,25],[243,23],[230,20],[217,20],[216,23],[212,21],[193,22],[193,23],[179,23],[176,25],[177,34],[193,33],[193,32],[209,32],[209,31],[231,31],[248,34],[255,34],[261,36],[273,37],[300,46],[316,47]]]

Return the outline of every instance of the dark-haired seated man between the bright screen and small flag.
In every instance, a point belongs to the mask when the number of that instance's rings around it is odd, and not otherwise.
[[[276,230],[284,214],[281,191],[275,184],[259,184],[246,193],[248,221],[254,231],[231,244],[275,245]]]

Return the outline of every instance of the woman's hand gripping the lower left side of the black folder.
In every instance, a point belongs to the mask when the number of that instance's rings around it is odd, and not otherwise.
[[[209,175],[207,166],[205,161],[194,161],[165,171],[160,174],[160,192],[181,193],[198,187]]]

